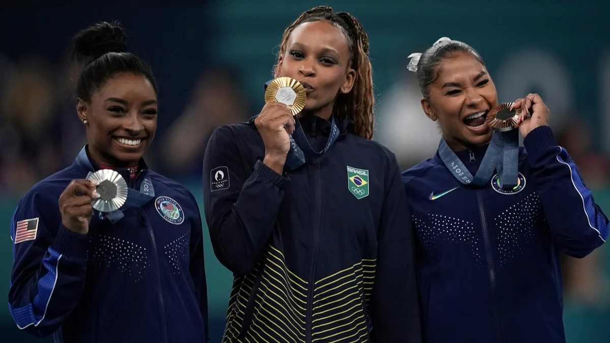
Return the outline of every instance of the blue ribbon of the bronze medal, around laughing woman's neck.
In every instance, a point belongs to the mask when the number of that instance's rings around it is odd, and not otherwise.
[[[440,139],[439,156],[448,170],[462,184],[484,186],[497,171],[504,189],[517,186],[519,160],[519,130],[495,132],[487,147],[483,161],[473,177],[468,168],[451,150],[444,138]]]

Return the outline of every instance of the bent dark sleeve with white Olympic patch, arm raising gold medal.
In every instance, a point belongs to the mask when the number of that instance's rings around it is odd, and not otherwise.
[[[267,246],[289,184],[260,157],[252,168],[251,173],[246,171],[231,128],[216,129],[203,162],[206,222],[218,261],[241,275],[251,270]]]

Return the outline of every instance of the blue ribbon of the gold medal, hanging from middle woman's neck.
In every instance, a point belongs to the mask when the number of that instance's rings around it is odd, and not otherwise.
[[[265,90],[271,81],[265,83]],[[305,132],[303,132],[303,127],[298,120],[295,120],[295,131],[293,132],[293,135],[288,134],[288,137],[290,138],[290,151],[288,152],[288,156],[286,156],[285,165],[290,170],[295,170],[305,164],[306,155],[309,157],[320,157],[325,154],[337,140],[337,137],[339,137],[339,128],[337,127],[335,118],[331,118],[331,134],[328,136],[325,148],[321,151],[315,151],[309,144],[309,140],[307,140]],[[301,147],[303,147],[304,152],[301,150]]]

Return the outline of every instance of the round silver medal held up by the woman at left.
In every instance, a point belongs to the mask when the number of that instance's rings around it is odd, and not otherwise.
[[[99,198],[91,200],[91,206],[99,212],[117,211],[127,200],[127,182],[117,171],[101,169],[88,179],[99,182],[96,187]]]

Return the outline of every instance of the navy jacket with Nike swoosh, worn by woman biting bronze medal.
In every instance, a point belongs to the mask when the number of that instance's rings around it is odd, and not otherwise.
[[[608,237],[608,218],[548,126],[519,154],[519,184],[463,186],[439,154],[403,173],[428,343],[565,342],[559,257]],[[456,155],[473,173],[487,146]]]

